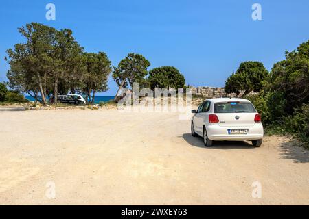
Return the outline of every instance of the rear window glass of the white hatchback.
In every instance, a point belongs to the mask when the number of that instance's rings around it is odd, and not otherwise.
[[[227,102],[215,103],[214,113],[228,114],[228,113],[242,113],[242,112],[256,112],[252,103],[247,102]]]

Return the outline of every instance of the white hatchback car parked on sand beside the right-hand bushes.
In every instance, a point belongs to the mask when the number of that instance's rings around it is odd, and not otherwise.
[[[211,146],[213,140],[247,140],[253,146],[262,144],[261,116],[247,99],[207,99],[192,113],[192,136],[203,136],[205,146]]]

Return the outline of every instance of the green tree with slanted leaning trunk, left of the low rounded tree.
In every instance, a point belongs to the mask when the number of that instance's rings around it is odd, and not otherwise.
[[[143,55],[135,53],[129,53],[117,67],[114,66],[112,77],[118,86],[115,100],[120,89],[128,86],[132,88],[134,82],[144,83],[149,66],[150,62]]]

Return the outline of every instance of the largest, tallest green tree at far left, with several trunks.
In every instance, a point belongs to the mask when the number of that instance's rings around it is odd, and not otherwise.
[[[10,64],[9,86],[39,99],[44,105],[51,94],[57,102],[58,88],[67,93],[75,89],[83,73],[83,49],[69,29],[56,30],[40,23],[19,28],[26,42],[8,49],[5,60]],[[78,84],[80,86],[80,84]]]

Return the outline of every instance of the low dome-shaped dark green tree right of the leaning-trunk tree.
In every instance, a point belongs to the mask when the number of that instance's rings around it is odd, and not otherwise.
[[[153,68],[149,72],[150,87],[155,88],[184,88],[185,77],[173,66]]]

